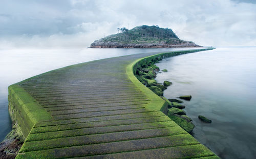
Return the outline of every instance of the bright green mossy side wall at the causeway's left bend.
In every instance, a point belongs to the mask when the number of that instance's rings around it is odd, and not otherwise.
[[[52,119],[51,115],[18,84],[10,85],[8,91],[9,114],[12,122],[18,123],[25,139],[35,123]]]

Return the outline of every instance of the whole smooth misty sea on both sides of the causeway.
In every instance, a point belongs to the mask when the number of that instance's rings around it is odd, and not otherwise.
[[[103,58],[175,49],[0,49],[0,141],[11,131],[8,86],[60,67]],[[221,158],[256,158],[256,47],[215,50],[165,58],[156,80],[173,82],[164,97],[182,103],[196,127],[192,135]],[[198,119],[203,115],[212,123]]]

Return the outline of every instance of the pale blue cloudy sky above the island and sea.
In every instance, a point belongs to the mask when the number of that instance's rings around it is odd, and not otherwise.
[[[256,46],[256,1],[2,0],[0,48],[86,48],[141,25],[201,46]]]

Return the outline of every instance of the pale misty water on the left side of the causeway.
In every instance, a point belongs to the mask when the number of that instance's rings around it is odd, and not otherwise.
[[[63,66],[138,53],[186,49],[18,49],[0,50],[0,142],[11,131],[8,86]]]

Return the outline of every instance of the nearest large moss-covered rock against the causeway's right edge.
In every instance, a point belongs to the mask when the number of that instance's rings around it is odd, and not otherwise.
[[[168,113],[168,117],[188,133],[191,133],[195,127],[195,125],[185,117],[175,115],[175,114],[170,114],[170,113]]]

